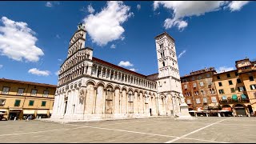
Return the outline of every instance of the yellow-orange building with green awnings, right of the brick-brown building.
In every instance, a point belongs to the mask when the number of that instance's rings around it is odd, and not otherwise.
[[[235,116],[250,116],[256,110],[256,69],[249,58],[236,61],[237,70],[214,74],[222,110]]]

